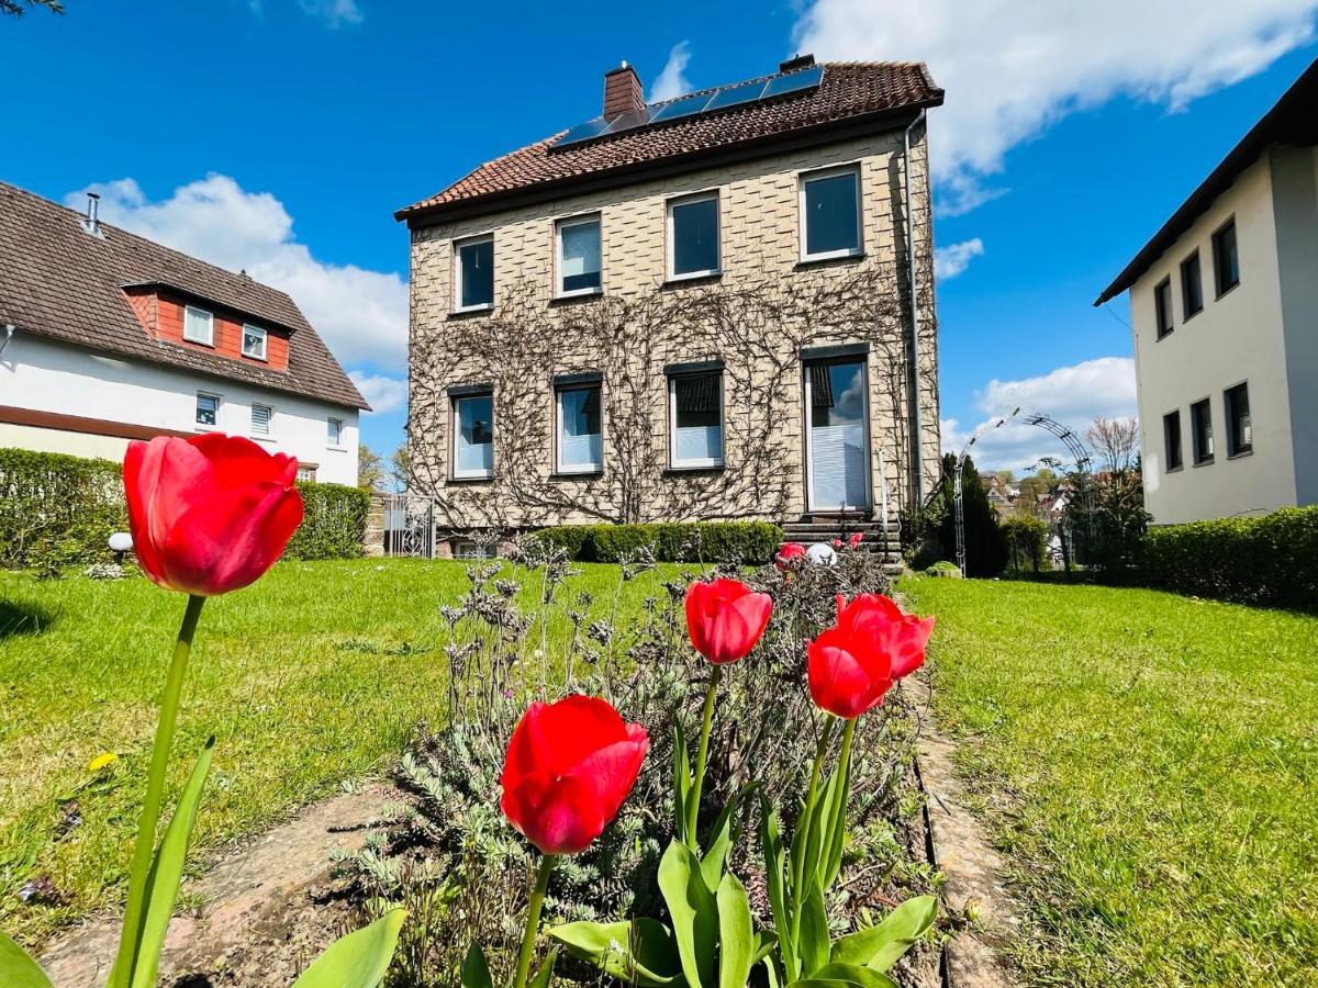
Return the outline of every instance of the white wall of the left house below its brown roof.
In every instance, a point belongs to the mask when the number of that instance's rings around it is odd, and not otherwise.
[[[0,404],[153,428],[208,431],[196,424],[196,394],[219,395],[216,425],[250,436],[270,452],[316,465],[316,480],[357,482],[357,410],[166,365],[117,360],[18,329],[0,354]],[[274,410],[269,436],[252,436],[252,403]],[[327,419],[343,422],[343,441],[327,444]],[[0,445],[121,457],[127,440],[59,429],[0,425]]]

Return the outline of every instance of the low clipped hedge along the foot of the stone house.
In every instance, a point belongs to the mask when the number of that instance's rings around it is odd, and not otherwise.
[[[581,563],[618,563],[648,545],[662,563],[742,563],[774,557],[783,530],[768,522],[699,522],[655,524],[567,524],[535,534]]]

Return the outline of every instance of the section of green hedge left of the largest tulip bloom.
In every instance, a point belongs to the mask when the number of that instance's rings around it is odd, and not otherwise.
[[[127,528],[119,464],[0,449],[0,566],[58,572],[108,559],[105,540]]]

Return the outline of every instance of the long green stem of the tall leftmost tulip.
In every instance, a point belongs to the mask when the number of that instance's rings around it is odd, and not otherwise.
[[[128,872],[128,904],[124,910],[124,930],[119,939],[119,954],[115,959],[115,983],[128,985],[133,980],[137,966],[137,950],[141,946],[142,921],[146,912],[146,879],[156,854],[156,827],[161,818],[161,800],[165,796],[165,776],[169,769],[169,754],[174,744],[174,727],[178,723],[178,703],[183,693],[183,678],[187,673],[187,659],[192,651],[192,635],[202,617],[204,597],[190,594],[183,623],[174,644],[174,659],[165,680],[165,694],[161,697],[161,714],[156,725],[156,744],[152,748],[152,768],[146,777],[146,796],[142,798],[142,815],[137,821],[137,843],[133,847],[133,864]]]

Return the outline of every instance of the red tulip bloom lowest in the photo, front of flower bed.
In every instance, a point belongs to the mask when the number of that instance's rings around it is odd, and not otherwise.
[[[507,744],[500,806],[543,854],[584,851],[618,814],[648,750],[645,727],[604,700],[538,701]]]

